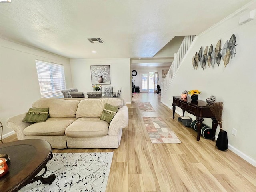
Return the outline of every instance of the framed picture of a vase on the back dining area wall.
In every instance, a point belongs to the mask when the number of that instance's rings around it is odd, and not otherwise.
[[[92,85],[110,85],[110,65],[91,65]]]

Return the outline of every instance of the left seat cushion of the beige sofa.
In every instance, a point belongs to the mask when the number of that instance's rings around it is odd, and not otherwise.
[[[76,118],[74,117],[51,117],[45,122],[34,123],[26,127],[23,132],[27,136],[40,136],[40,135],[65,135],[66,127],[72,124]]]

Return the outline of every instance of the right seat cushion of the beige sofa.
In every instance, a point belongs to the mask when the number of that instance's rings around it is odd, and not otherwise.
[[[65,134],[74,138],[106,136],[108,134],[108,125],[106,121],[97,117],[81,117],[66,128]]]

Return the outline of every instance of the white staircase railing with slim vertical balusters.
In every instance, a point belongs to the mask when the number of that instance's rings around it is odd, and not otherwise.
[[[166,74],[164,81],[162,82],[162,87],[161,87],[162,96],[164,96],[164,94],[166,93],[166,90],[167,90],[168,86],[170,85],[170,83],[172,82],[173,77],[175,76],[176,72],[178,71],[178,68],[179,68],[188,48],[190,47],[190,45],[192,44],[192,42],[194,41],[195,38],[196,38],[195,35],[184,37],[184,39],[180,45],[180,48],[178,49],[177,53],[174,54],[174,60],[172,62],[172,65],[171,65],[168,73]]]

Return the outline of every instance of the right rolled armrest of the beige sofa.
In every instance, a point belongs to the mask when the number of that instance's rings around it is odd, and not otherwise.
[[[118,109],[116,115],[110,122],[108,127],[108,135],[118,135],[119,130],[128,126],[128,107],[122,106],[122,108]]]

